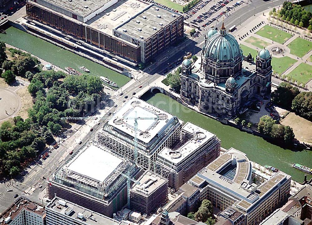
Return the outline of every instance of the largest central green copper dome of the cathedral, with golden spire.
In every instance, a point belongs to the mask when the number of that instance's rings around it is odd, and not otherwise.
[[[211,36],[203,47],[203,53],[207,59],[215,62],[231,62],[242,58],[241,48],[235,37],[226,33],[224,24],[218,34]]]

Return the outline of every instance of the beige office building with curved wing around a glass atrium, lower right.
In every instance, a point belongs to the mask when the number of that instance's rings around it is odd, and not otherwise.
[[[201,199],[224,210],[221,215],[237,222],[233,224],[257,224],[290,193],[291,176],[279,171],[262,183],[253,183],[252,170],[246,154],[231,148],[189,184],[200,190]]]

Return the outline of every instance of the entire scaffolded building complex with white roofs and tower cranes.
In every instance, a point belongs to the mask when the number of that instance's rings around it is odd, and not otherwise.
[[[57,196],[119,221],[128,216],[136,221],[168,203],[168,187],[178,189],[219,156],[214,134],[189,122],[183,126],[138,98],[102,119],[95,139],[47,182],[49,199]],[[172,164],[158,161],[167,151]]]

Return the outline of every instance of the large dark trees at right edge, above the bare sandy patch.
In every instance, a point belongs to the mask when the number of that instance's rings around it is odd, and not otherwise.
[[[290,109],[297,115],[312,121],[312,92],[301,92],[297,87],[282,82],[271,94],[272,102]]]

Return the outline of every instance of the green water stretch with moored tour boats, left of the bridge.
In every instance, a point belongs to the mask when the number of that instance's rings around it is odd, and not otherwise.
[[[38,37],[21,31],[15,27],[9,27],[7,34],[0,33],[0,38],[7,44],[13,45],[22,50],[28,51],[39,58],[46,60],[62,69],[72,67],[82,72],[80,66],[90,69],[90,74],[96,76],[108,77],[118,84],[119,87],[127,83],[130,78],[119,74],[111,69],[97,64],[91,60],[85,59],[71,51],[62,49],[50,42],[44,41]],[[84,73],[84,72],[82,72]]]

